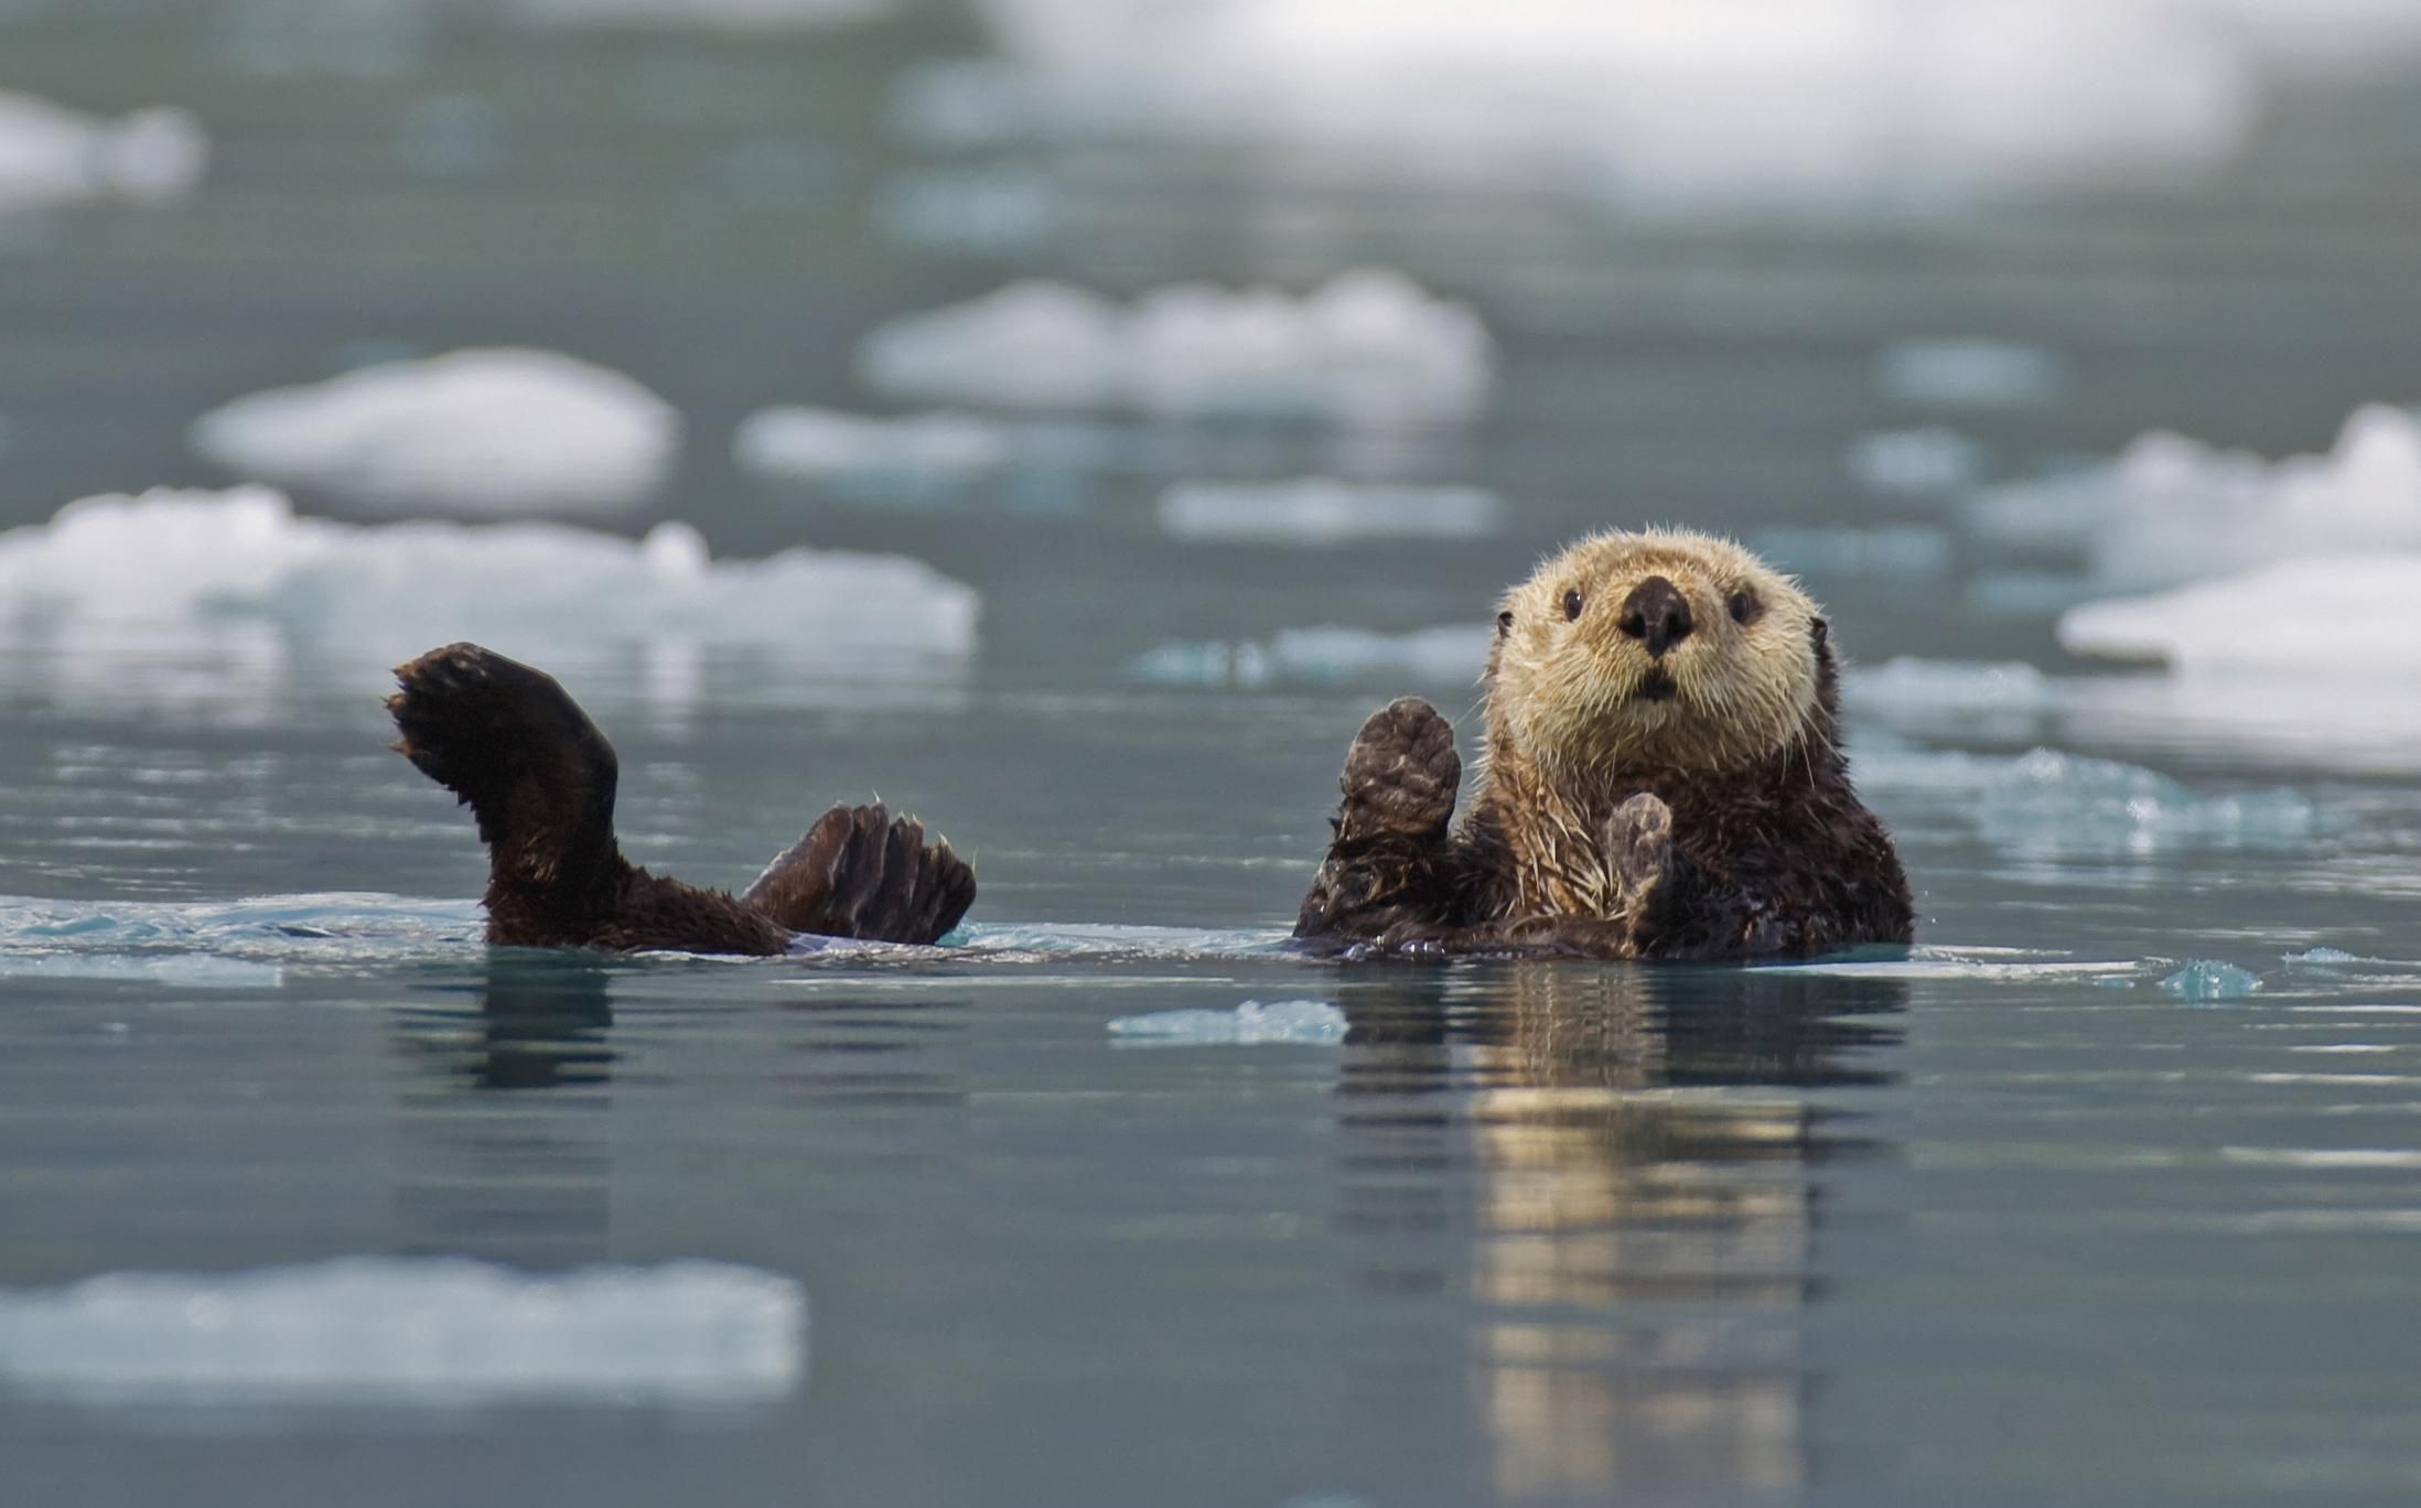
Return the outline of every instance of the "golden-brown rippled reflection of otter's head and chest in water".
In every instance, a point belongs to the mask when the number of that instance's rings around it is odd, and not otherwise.
[[[1874,1150],[1806,1092],[1893,1082],[1871,1051],[1900,1034],[1874,1017],[1905,988],[1513,963],[1341,1000],[1344,1126],[1385,1169],[1348,1227],[1467,1232],[1445,1271],[1390,1256],[1365,1278],[1479,1305],[1496,1493],[1801,1486],[1813,1169]]]

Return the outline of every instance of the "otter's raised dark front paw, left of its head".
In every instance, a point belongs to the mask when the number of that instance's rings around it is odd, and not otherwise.
[[[1455,816],[1462,758],[1438,709],[1404,697],[1370,714],[1339,779],[1336,838],[1312,879],[1295,937],[1382,937],[1436,929],[1462,913]]]

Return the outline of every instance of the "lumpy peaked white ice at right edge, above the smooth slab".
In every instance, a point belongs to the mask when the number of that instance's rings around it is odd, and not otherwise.
[[[2421,549],[2421,416],[2370,404],[2327,455],[2276,462],[2147,433],[2111,465],[1995,487],[1968,506],[1968,523],[1992,545],[2080,552],[2104,593],[2300,554],[2411,552]]]

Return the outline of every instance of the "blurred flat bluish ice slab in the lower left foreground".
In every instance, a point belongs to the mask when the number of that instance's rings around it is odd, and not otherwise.
[[[804,1377],[806,1293],[717,1261],[346,1256],[0,1290],[0,1382],[92,1406],[729,1406]]]

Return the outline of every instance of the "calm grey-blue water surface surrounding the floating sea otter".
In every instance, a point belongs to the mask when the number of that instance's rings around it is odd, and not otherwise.
[[[879,792],[983,896],[947,951],[489,951],[477,840],[383,750],[375,661],[0,649],[0,1501],[2421,1493],[2421,755],[2082,673],[2048,610],[1978,588],[2009,562],[1939,501],[1842,467],[1932,419],[1874,380],[1915,336],[2065,363],[1956,416],[1990,474],[2157,426],[2312,450],[2421,397],[2406,85],[2288,92],[2203,184],[1956,220],[1661,223],[1024,145],[973,167],[1051,182],[1046,223],[932,244],[886,184],[968,157],[903,140],[886,85],[981,48],[968,17],[564,41],[295,15],[0,5],[0,87],[174,102],[213,138],[182,203],[10,223],[0,523],[228,482],[184,424],[257,387],[458,344],[603,361],[690,426],[649,518],[983,591],[971,661],[872,690],[557,663],[620,748],[632,857],[741,883]],[[760,404],[864,404],[876,322],[1012,276],[1361,261],[1496,334],[1494,407],[1414,472],[1496,489],[1503,530],[1186,545],[1150,467],[901,511],[729,460]],[[1240,445],[1242,474],[1312,465],[1300,433]],[[1470,678],[1135,656],[1479,622],[1537,549],[1644,518],[1796,540],[1869,666],[2063,675],[1852,702],[1922,946],[1290,956],[1353,726],[1399,692],[1462,714]],[[1939,554],[1772,535],[1811,525]],[[1111,1031],[1165,1012],[1273,1038]],[[625,1288],[564,1278],[598,1271]],[[90,1285],[131,1273],[157,1280]]]

